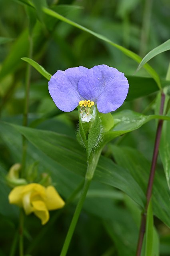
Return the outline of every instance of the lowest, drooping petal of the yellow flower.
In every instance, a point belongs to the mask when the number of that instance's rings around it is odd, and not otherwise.
[[[44,202],[34,201],[32,202],[34,207],[34,214],[40,218],[42,225],[46,224],[49,220],[49,212]]]

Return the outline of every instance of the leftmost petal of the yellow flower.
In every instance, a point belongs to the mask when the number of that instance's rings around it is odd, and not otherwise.
[[[22,192],[24,190],[24,187],[25,186],[17,186],[12,189],[8,196],[10,204],[16,204],[22,207]]]

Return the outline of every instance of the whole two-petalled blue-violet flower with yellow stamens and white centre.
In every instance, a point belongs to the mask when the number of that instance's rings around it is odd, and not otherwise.
[[[65,112],[80,105],[82,120],[119,108],[128,94],[128,80],[116,68],[107,65],[58,70],[49,81],[49,92],[56,106]]]

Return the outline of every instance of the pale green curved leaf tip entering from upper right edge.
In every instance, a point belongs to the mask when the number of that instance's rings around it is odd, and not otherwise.
[[[156,48],[154,48],[150,52],[148,52],[148,54],[146,54],[146,56],[144,56],[144,58],[140,62],[139,66],[137,68],[137,71],[140,70],[140,68],[142,68],[142,66],[144,66],[146,64],[146,62],[148,62],[150,59],[152,59],[156,55],[158,55],[162,52],[166,52],[168,50],[170,50],[170,39],[168,39],[163,44],[160,44],[159,46],[157,46]]]

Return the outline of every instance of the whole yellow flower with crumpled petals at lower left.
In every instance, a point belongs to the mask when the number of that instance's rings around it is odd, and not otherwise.
[[[37,183],[13,188],[8,198],[10,204],[23,207],[26,214],[34,212],[42,225],[49,220],[48,210],[60,209],[65,204],[53,186],[45,188]]]

